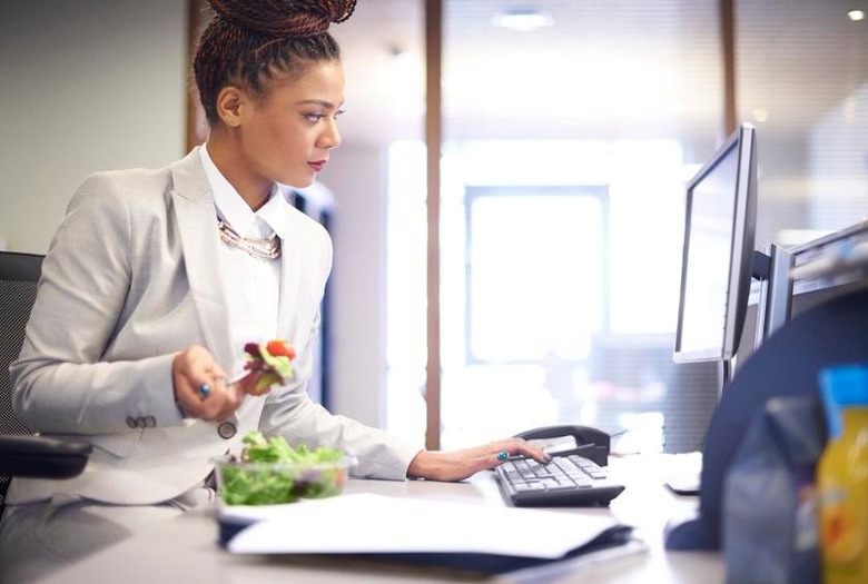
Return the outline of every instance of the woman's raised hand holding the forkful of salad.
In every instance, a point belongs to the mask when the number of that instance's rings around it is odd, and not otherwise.
[[[241,405],[244,393],[227,385],[226,374],[214,356],[199,345],[178,353],[171,362],[175,402],[186,417],[221,420]]]

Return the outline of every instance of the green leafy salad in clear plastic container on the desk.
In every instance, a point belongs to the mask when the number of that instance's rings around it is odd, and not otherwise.
[[[274,505],[299,498],[322,498],[339,494],[346,483],[347,464],[343,452],[304,444],[292,447],[283,436],[267,438],[251,432],[240,461],[218,466],[220,496],[227,505]]]

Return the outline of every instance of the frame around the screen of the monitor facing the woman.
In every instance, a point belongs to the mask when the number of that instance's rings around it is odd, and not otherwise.
[[[684,239],[681,253],[681,288],[678,304],[675,344],[672,353],[675,363],[730,362],[738,353],[739,342],[744,328],[753,275],[753,247],[757,221],[756,141],[756,128],[753,125],[748,122],[741,123],[687,184]],[[688,277],[688,255],[690,254],[690,225],[693,195],[697,187],[700,186],[712,170],[714,170],[733,150],[738,151],[738,175],[736,178],[734,210],[731,216],[732,236],[730,239],[730,263],[727,278],[728,286],[726,316],[723,319],[723,342],[719,347],[684,348],[682,347],[685,306],[684,294]]]

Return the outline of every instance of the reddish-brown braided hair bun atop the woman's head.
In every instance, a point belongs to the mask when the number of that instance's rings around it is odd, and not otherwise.
[[[270,37],[313,37],[353,14],[356,0],[208,0],[238,28]]]

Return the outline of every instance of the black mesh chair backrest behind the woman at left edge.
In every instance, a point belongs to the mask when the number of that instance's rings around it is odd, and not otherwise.
[[[9,365],[18,358],[36,300],[43,256],[0,251],[0,436],[30,434],[12,412]],[[0,475],[0,515],[9,476]]]

